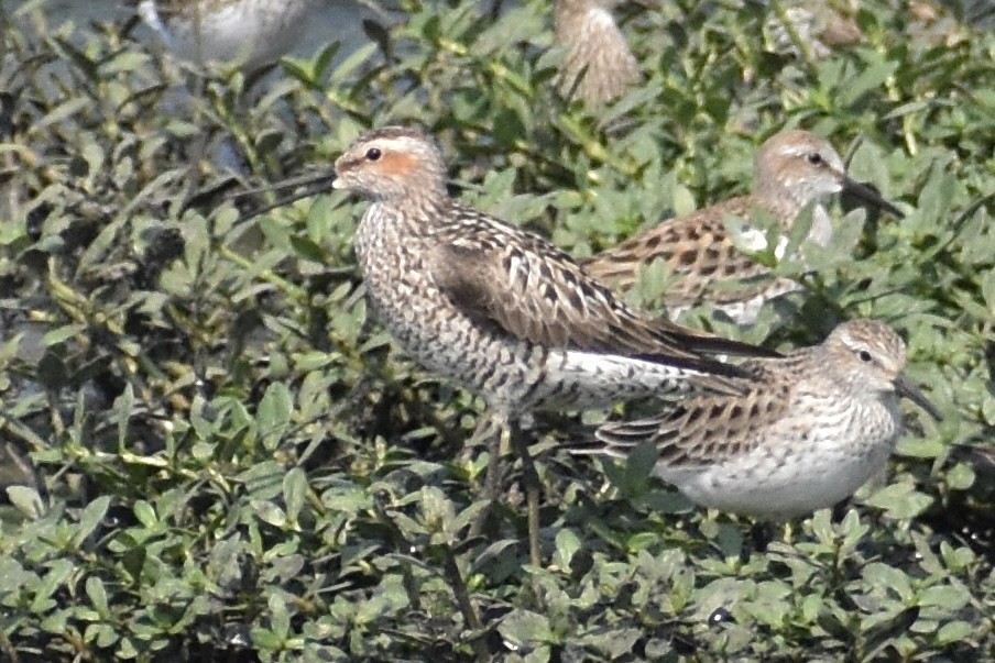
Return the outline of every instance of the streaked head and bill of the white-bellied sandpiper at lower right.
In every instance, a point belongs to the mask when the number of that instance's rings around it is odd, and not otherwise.
[[[843,322],[825,340],[825,350],[831,355],[827,364],[839,369],[840,378],[855,389],[896,393],[942,419],[936,406],[903,375],[905,342],[884,322]]]

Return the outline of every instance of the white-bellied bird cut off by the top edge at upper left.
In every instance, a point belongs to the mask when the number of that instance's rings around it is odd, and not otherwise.
[[[300,38],[317,0],[142,0],[138,13],[177,57],[270,64]]]

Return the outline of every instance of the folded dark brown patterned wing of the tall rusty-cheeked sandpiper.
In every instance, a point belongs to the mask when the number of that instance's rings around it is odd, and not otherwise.
[[[533,343],[708,373],[740,375],[699,353],[775,354],[631,309],[546,240],[458,209],[460,228],[438,237],[430,269],[453,303],[482,322]]]

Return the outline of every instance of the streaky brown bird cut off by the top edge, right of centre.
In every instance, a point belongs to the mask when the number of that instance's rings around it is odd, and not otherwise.
[[[577,85],[577,95],[586,103],[598,106],[621,97],[638,82],[638,64],[611,13],[622,1],[556,1],[556,43],[568,49],[560,79],[565,93]]]

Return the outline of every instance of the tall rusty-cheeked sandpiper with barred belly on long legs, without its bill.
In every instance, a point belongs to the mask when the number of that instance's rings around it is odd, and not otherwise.
[[[739,368],[701,353],[772,354],[632,309],[543,237],[463,207],[446,191],[441,152],[418,131],[372,131],[335,172],[335,188],[373,202],[356,234],[372,310],[418,362],[483,396],[501,428],[489,498],[498,495],[502,441],[522,455],[533,563],[538,478],[512,432],[524,411],[742,393]]]

